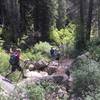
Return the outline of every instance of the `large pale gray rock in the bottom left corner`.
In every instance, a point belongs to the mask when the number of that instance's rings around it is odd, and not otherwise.
[[[0,88],[0,100],[29,100],[26,91],[3,76],[0,76]]]

